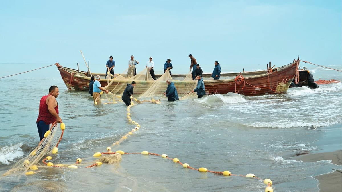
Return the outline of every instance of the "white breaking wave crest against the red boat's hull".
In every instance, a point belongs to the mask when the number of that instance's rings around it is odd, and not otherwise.
[[[195,99],[195,102],[198,102],[202,105],[220,106],[221,104],[235,104],[247,101],[240,94],[227,93],[224,95],[208,95],[206,97],[203,97],[202,99]]]

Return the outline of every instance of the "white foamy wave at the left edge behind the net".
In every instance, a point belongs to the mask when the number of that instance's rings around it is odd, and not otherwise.
[[[5,146],[0,150],[0,165],[9,165],[10,161],[13,161],[17,157],[24,155],[23,150],[20,148],[23,143],[17,143],[12,146]]]

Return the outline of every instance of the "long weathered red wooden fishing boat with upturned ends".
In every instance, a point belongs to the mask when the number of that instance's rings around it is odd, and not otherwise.
[[[90,74],[87,71],[80,71],[76,69],[71,69],[67,67],[62,67],[59,64],[56,64],[58,70],[61,73],[62,79],[67,86],[67,88],[71,91],[79,90],[79,91],[88,91],[89,90],[89,82],[90,82]],[[294,61],[288,65],[284,65],[278,68],[264,71],[256,71],[256,72],[245,72],[245,73],[221,73],[221,78],[219,80],[208,79],[210,74],[204,74],[204,83],[206,87],[207,94],[226,94],[229,92],[238,93],[246,96],[258,96],[258,95],[269,95],[269,94],[282,94],[287,93],[289,85],[294,79],[295,73],[298,72],[299,61]],[[101,76],[101,86],[105,87],[108,85],[107,80],[104,79],[104,73],[92,73],[93,76],[100,75]],[[160,77],[160,76],[156,76]],[[185,77],[184,74],[172,74],[172,78],[182,78]],[[119,92],[123,92],[123,89],[126,87],[127,83],[131,83],[132,80],[116,80],[111,79],[111,85],[107,88],[107,90],[113,90],[118,87],[121,90]],[[140,95],[147,91],[147,89],[154,83],[154,81],[137,81],[136,86],[134,87],[134,95]],[[179,94],[186,94],[192,89],[189,90],[189,85],[193,84],[193,81],[173,81],[175,87],[177,88],[177,92]],[[165,83],[165,87],[162,87],[161,90],[157,93],[157,95],[163,94],[166,90],[167,84]],[[184,92],[184,93],[183,93]]]

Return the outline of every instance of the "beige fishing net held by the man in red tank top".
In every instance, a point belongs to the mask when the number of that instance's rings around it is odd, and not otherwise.
[[[10,169],[7,170],[3,176],[7,175],[18,175],[25,173],[28,169],[35,169],[35,166],[44,155],[50,153],[56,153],[58,150],[58,144],[62,139],[65,125],[63,124],[61,129],[61,123],[50,124],[50,134],[49,131],[45,133],[44,137],[39,145],[34,149],[27,157],[18,160]],[[57,148],[57,149],[56,149]]]

